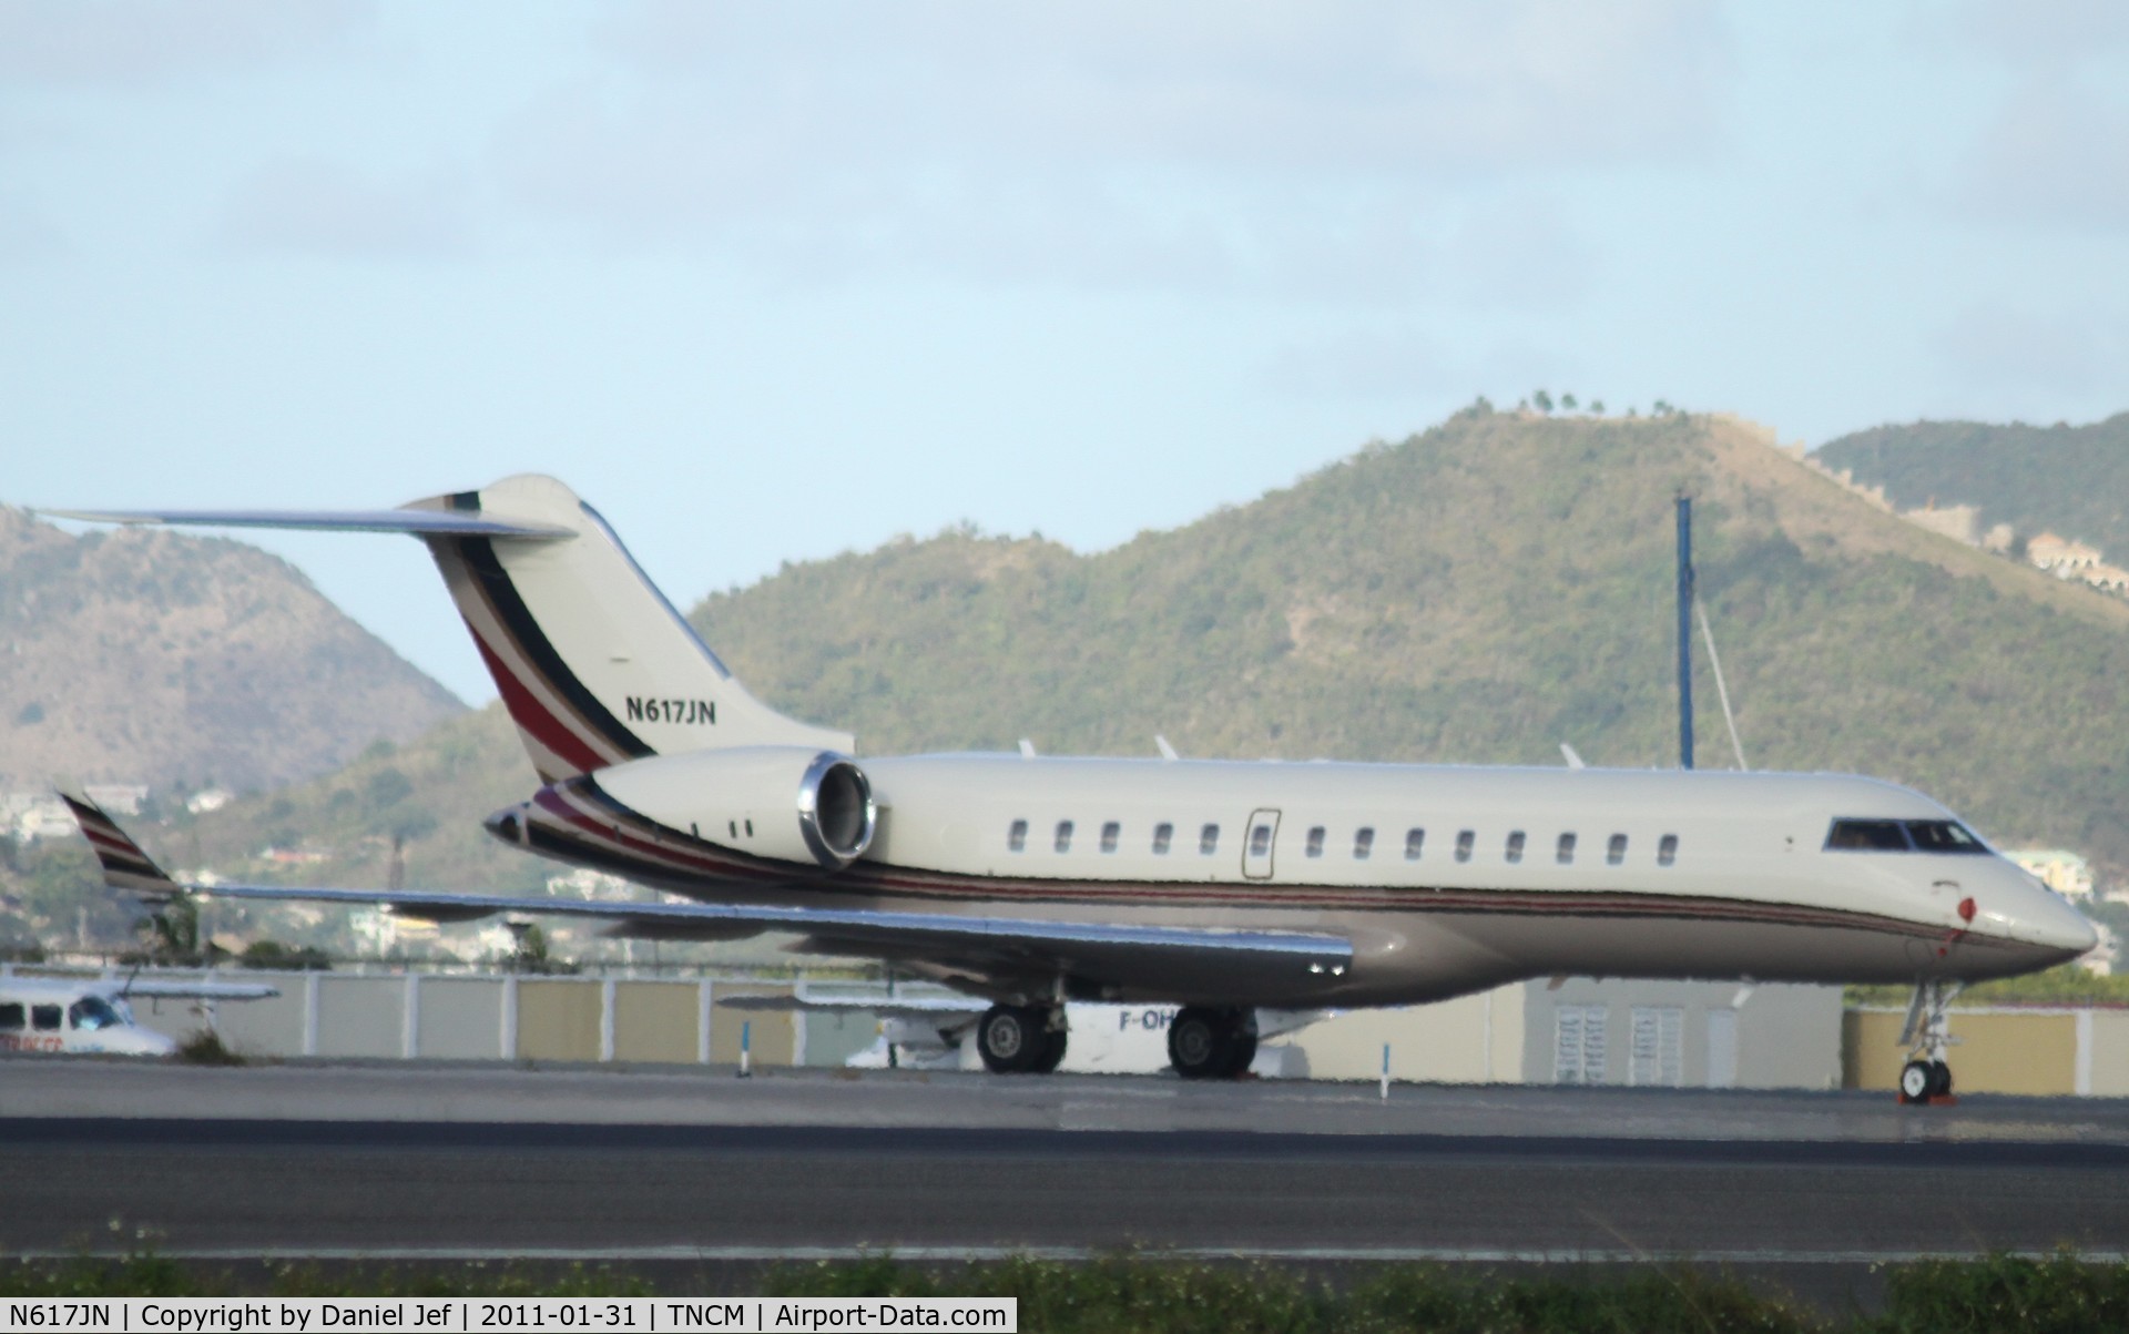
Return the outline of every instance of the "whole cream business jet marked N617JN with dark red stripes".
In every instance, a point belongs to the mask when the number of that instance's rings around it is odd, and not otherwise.
[[[413,534],[541,787],[488,817],[664,904],[215,885],[224,898],[541,913],[609,934],[794,932],[988,1002],[984,1064],[1054,1070],[1067,1002],[1182,1006],[1169,1057],[1231,1077],[1258,1008],[1443,1000],[1590,974],[1912,983],[1903,1096],[1950,1091],[1959,985],[2095,932],[1927,796],[1850,774],[858,757],[732,677],[598,511],[547,477],[387,511],[47,511],[117,523]],[[68,794],[111,885],[177,885]]]

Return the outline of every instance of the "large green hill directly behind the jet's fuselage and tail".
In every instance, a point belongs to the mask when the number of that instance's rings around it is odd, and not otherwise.
[[[1718,417],[1473,408],[1113,551],[945,532],[788,566],[694,619],[864,753],[1011,747],[1656,766],[1676,751],[1671,496],[1748,760],[1914,783],[1999,840],[2129,866],[2129,606],[1871,508]],[[436,594],[441,596],[441,594]],[[1701,664],[1703,766],[1729,762]],[[532,787],[490,708],[162,830],[187,864],[332,849],[313,881],[524,887],[477,819]],[[255,864],[253,864],[255,866]]]

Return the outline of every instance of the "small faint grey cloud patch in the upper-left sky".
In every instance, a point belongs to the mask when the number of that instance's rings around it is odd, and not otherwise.
[[[449,257],[471,247],[449,174],[377,181],[319,160],[275,162],[230,191],[215,240],[241,253]]]

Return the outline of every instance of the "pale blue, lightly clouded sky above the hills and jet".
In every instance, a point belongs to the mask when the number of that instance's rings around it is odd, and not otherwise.
[[[1478,396],[2129,408],[2116,0],[0,0],[0,500],[551,472],[683,606]],[[405,538],[275,534],[468,702]]]

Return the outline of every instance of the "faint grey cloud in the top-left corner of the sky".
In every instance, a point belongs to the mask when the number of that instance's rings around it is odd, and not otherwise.
[[[341,49],[370,0],[0,0],[0,81],[138,87]]]

